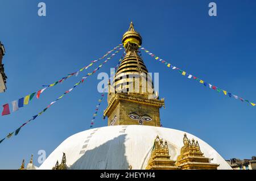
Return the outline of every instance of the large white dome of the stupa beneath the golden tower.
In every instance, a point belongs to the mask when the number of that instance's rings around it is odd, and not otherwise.
[[[39,169],[52,169],[61,162],[63,153],[68,169],[145,169],[156,136],[168,143],[170,159],[176,160],[183,145],[183,131],[145,125],[116,125],[89,129],[73,134],[63,141],[42,163]],[[205,157],[212,158],[218,169],[232,169],[210,145],[186,133],[199,142]]]

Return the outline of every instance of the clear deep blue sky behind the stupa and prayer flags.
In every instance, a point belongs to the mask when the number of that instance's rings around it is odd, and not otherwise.
[[[40,1],[0,0],[0,41],[7,91],[0,104],[19,99],[87,65],[121,43],[131,20],[143,46],[180,69],[233,94],[256,102],[255,1],[47,1],[47,16],[37,15]],[[105,64],[109,72],[121,54]],[[164,127],[195,134],[225,159],[256,154],[256,107],[189,80],[143,53],[152,73],[159,72]],[[99,64],[97,64],[99,65]],[[95,65],[96,68],[96,65]],[[93,68],[89,69],[93,70]],[[89,71],[88,70],[88,71]],[[69,78],[43,92],[25,108],[0,117],[0,138],[40,112],[80,80]],[[0,169],[18,169],[38,150],[49,155],[65,138],[89,128],[100,93],[97,76],[86,79],[42,116],[0,145]],[[102,120],[106,99],[94,127]]]

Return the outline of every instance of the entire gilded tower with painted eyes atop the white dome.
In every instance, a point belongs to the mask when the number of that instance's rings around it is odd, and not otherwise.
[[[159,100],[154,91],[152,78],[138,54],[142,44],[141,35],[134,30],[133,23],[122,37],[126,51],[113,82],[109,82],[108,107],[104,116],[108,125],[150,125],[160,127]]]

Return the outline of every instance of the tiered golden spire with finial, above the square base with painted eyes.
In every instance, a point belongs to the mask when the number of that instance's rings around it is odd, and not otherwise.
[[[146,95],[150,92],[154,94],[153,86],[148,86],[150,84],[152,85],[151,77],[147,76],[148,70],[146,65],[144,65],[142,58],[138,54],[139,46],[142,44],[142,37],[134,30],[132,22],[128,31],[123,34],[122,43],[126,50],[126,56],[123,58],[114,77],[113,86],[115,92],[136,92]],[[144,73],[144,75],[142,73]],[[139,77],[141,77],[141,79],[139,79]],[[142,87],[143,81],[144,87]],[[139,83],[140,87],[135,85],[135,82]],[[131,86],[133,86],[133,89],[129,89]],[[138,88],[137,90],[135,90],[136,86]],[[142,90],[143,88],[144,90]]]

